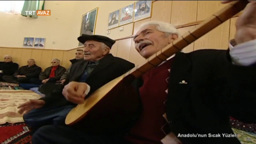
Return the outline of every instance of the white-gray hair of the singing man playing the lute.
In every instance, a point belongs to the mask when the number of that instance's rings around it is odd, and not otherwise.
[[[166,22],[160,22],[160,21],[144,22],[143,24],[140,25],[139,31],[145,26],[150,26],[150,25],[155,25],[158,31],[165,32],[166,35],[177,34],[178,36],[180,36],[178,30],[173,25]]]

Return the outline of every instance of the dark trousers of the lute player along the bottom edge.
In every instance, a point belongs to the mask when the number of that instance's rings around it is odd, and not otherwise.
[[[85,129],[86,131],[86,129]],[[121,136],[91,135],[69,126],[47,125],[32,136],[32,144],[128,144]]]

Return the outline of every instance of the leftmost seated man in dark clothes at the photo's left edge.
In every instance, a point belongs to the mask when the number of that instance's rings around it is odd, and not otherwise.
[[[0,81],[3,81],[2,77],[4,75],[13,75],[18,68],[19,65],[12,62],[12,56],[5,55],[4,62],[0,62]]]

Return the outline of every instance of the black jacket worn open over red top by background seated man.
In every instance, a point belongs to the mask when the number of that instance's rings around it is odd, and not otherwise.
[[[50,66],[50,67],[46,68],[43,72],[41,72],[39,75],[39,79],[41,81],[43,81],[44,79],[49,78],[52,68],[53,67]],[[54,71],[54,74],[55,74],[54,78],[59,80],[60,77],[65,73],[65,71],[66,71],[66,68],[64,68],[63,66],[58,66],[58,68]]]

